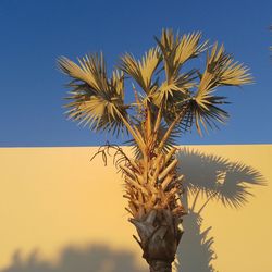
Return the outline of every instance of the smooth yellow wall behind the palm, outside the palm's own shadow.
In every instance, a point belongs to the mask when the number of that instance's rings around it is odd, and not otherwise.
[[[271,272],[272,145],[188,148],[186,152],[198,150],[207,158],[214,154],[228,162],[240,161],[267,180],[267,186],[252,187],[255,197],[248,197],[248,203],[238,210],[211,201],[202,212],[201,230],[212,226],[207,238],[214,240],[211,250],[218,258],[210,263],[218,271]],[[107,168],[100,158],[90,162],[96,150],[0,149],[0,271],[147,271],[132,238],[135,231],[124,210],[121,177],[110,161]],[[195,162],[186,171],[195,170],[196,178],[201,178],[210,162],[206,160],[202,166],[201,160]],[[217,172],[214,168],[217,163],[209,171]],[[182,244],[180,255],[187,247]],[[189,267],[198,258],[191,256],[186,262]]]

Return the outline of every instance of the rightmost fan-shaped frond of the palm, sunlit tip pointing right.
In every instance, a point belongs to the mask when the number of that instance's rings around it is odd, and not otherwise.
[[[231,54],[225,53],[224,47],[218,48],[218,44],[207,53],[207,64],[203,74],[200,75],[198,90],[190,103],[198,133],[201,135],[201,126],[217,126],[217,122],[224,123],[228,118],[226,111],[219,104],[227,103],[226,98],[214,96],[217,87],[240,86],[251,83],[252,78],[248,69],[238,62],[234,62]]]

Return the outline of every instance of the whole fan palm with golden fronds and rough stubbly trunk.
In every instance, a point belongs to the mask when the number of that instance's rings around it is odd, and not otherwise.
[[[128,133],[134,157],[121,148],[118,166],[123,173],[126,210],[139,237],[134,236],[150,271],[172,271],[172,262],[182,237],[182,175],[177,175],[175,139],[193,126],[199,134],[217,127],[228,118],[222,109],[224,96],[218,87],[249,84],[248,69],[225,52],[218,42],[200,42],[201,34],[180,36],[163,29],[156,47],[141,59],[121,57],[120,64],[107,74],[103,54],[67,58],[58,63],[72,81],[67,99],[67,116],[88,125],[94,132]],[[206,52],[206,65],[184,71],[185,64]],[[125,81],[132,81],[135,101],[125,103]],[[103,158],[106,147],[100,149]]]

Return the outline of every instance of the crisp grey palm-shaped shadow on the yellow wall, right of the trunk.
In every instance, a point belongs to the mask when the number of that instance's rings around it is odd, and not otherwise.
[[[188,214],[183,221],[184,234],[176,256],[176,271],[215,272],[214,237],[210,235],[211,226],[201,228],[201,212],[211,201],[226,208],[243,207],[254,196],[252,187],[265,185],[265,180],[259,171],[242,162],[194,149],[182,149],[178,162],[178,171],[184,175],[182,201]]]

